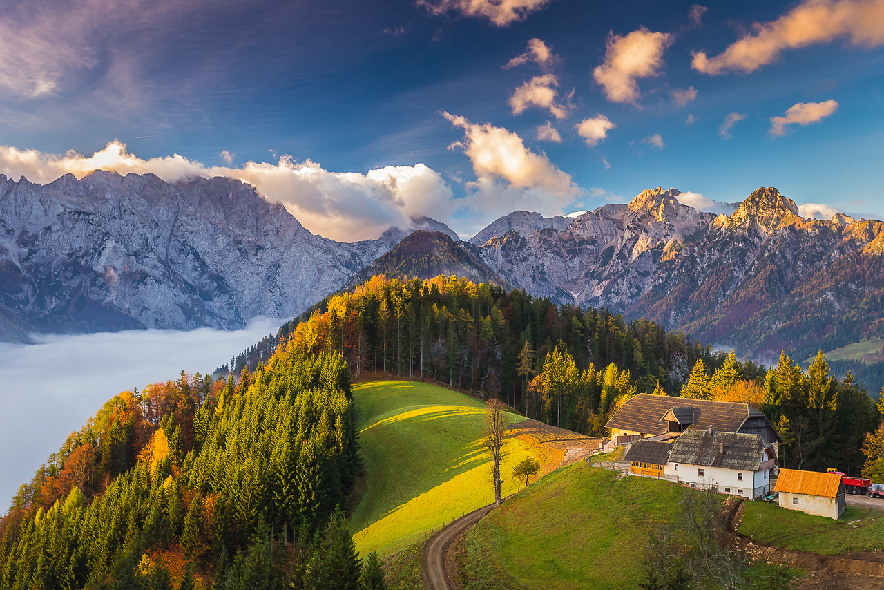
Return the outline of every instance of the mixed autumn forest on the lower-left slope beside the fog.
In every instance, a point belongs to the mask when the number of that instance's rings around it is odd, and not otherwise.
[[[182,372],[120,394],[0,520],[0,588],[355,585],[336,507],[357,453],[339,355],[280,350],[238,385]]]

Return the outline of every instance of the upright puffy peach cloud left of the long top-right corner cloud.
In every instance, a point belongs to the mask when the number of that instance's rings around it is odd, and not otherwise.
[[[642,27],[621,36],[608,34],[605,62],[592,71],[592,77],[608,100],[637,105],[638,78],[656,76],[663,65],[663,51],[672,43],[668,33],[655,33]]]

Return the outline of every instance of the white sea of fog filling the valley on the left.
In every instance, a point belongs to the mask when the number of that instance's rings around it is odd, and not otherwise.
[[[0,342],[0,513],[68,434],[126,389],[203,374],[277,333],[283,320],[255,318],[243,330],[201,328],[35,335]]]

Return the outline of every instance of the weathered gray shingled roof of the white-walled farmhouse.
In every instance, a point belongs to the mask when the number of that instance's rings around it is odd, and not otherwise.
[[[669,462],[758,471],[765,461],[764,449],[765,441],[758,434],[710,435],[705,430],[691,429],[673,443]]]

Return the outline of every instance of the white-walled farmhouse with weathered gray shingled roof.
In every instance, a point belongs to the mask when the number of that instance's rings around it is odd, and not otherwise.
[[[690,487],[758,498],[770,493],[775,467],[773,446],[759,434],[693,428],[672,443],[663,476]]]

